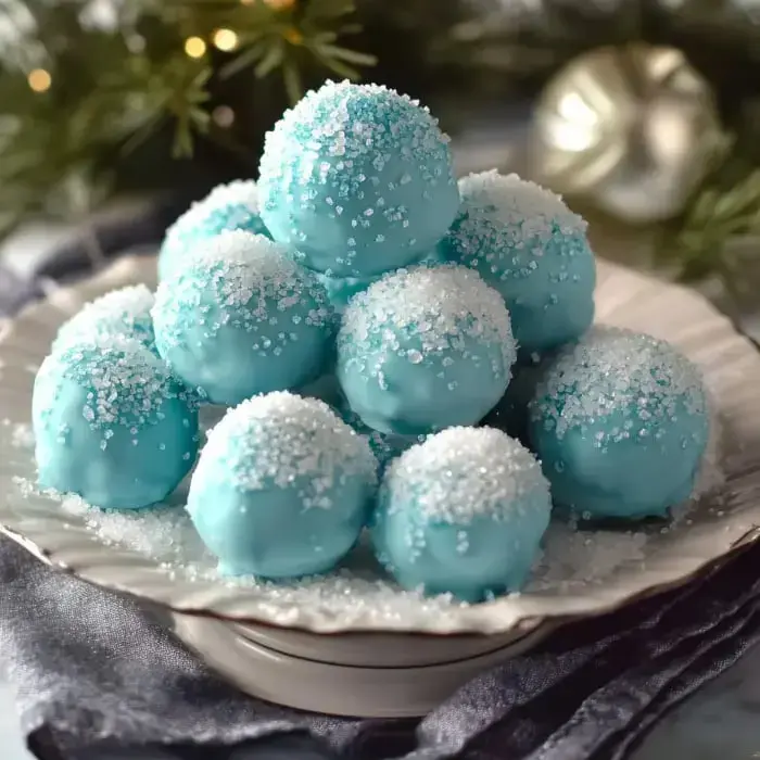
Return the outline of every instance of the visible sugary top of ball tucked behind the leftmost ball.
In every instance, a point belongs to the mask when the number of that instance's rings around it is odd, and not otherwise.
[[[153,335],[153,293],[144,286],[113,290],[91,301],[61,326],[53,341],[53,351],[87,338],[121,335],[134,338],[155,351]]]

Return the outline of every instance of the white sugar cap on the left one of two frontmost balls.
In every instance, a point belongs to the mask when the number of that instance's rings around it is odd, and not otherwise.
[[[197,477],[219,466],[242,491],[307,481],[307,507],[330,507],[332,489],[346,478],[373,484],[377,477],[365,439],[324,402],[284,391],[244,401],[208,433]]]

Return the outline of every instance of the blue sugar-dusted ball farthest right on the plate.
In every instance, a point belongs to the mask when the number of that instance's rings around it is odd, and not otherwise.
[[[698,474],[705,388],[668,343],[595,327],[542,375],[529,432],[555,504],[593,517],[664,516]]]

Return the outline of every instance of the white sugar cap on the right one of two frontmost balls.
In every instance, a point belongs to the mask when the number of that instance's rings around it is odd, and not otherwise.
[[[415,504],[431,521],[503,520],[535,506],[548,510],[549,485],[535,457],[493,428],[448,428],[391,463],[383,479],[390,509]]]

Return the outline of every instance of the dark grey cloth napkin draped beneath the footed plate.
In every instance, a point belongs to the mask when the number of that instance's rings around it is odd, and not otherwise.
[[[204,760],[622,758],[760,637],[759,560],[750,549],[686,588],[560,630],[419,722],[377,721],[246,697],[188,653],[156,610],[53,571],[3,539],[0,662],[45,760],[117,747],[152,759],[164,757],[162,746],[169,758]]]

